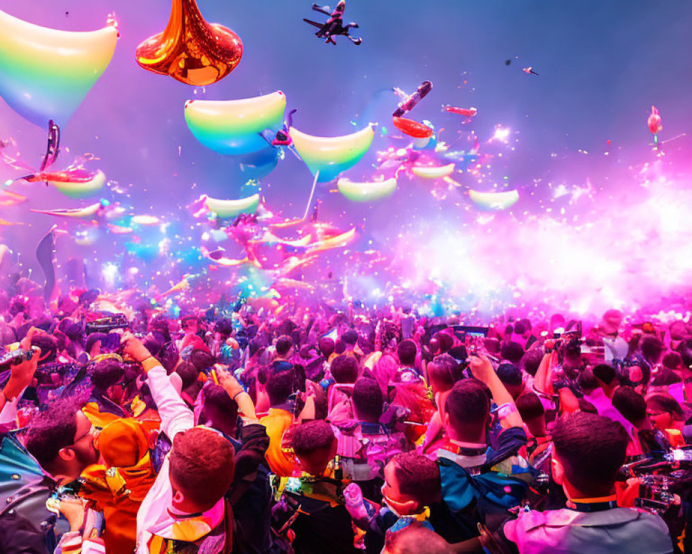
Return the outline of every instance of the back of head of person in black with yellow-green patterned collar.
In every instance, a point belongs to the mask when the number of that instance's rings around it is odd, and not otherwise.
[[[302,469],[314,476],[324,474],[336,456],[337,443],[331,425],[313,420],[297,425],[291,431],[291,447]]]

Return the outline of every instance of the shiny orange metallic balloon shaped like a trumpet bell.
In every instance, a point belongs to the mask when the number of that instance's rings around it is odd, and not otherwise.
[[[163,33],[146,39],[135,53],[137,63],[147,71],[197,87],[226,77],[242,55],[240,37],[229,28],[204,21],[195,0],[173,0]]]

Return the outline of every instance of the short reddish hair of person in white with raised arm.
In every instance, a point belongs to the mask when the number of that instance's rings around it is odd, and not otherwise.
[[[193,427],[176,434],[169,461],[174,485],[200,511],[214,506],[233,483],[233,446],[215,431]]]

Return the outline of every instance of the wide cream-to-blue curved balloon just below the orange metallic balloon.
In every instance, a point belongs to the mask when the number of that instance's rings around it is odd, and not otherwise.
[[[188,100],[185,121],[200,143],[219,154],[252,154],[268,147],[261,133],[281,129],[286,109],[282,91],[242,100]]]

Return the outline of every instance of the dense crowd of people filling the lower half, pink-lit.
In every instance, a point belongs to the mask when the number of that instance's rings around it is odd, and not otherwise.
[[[692,553],[682,319],[0,314],[1,553]]]

